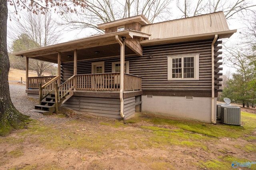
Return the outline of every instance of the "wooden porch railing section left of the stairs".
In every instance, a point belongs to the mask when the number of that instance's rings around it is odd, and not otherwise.
[[[27,77],[27,88],[28,89],[39,89],[39,83],[46,84],[52,80],[55,76],[40,76],[40,77]]]

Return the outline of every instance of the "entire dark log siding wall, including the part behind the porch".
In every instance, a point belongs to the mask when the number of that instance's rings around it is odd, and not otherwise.
[[[143,57],[126,56],[129,61],[129,72],[142,77],[143,94],[158,96],[211,96],[211,44],[212,39],[178,44],[167,44],[143,48]],[[150,58],[149,55],[153,57]],[[199,55],[199,80],[167,80],[167,57],[174,55]],[[120,61],[119,57],[78,61],[78,74],[91,74],[93,62],[105,62],[105,73],[112,72],[112,62]],[[66,80],[73,75],[73,63],[62,63],[62,78]]]

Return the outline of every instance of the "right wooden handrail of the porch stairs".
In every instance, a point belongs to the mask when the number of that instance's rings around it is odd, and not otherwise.
[[[76,75],[71,76],[68,80],[64,81],[62,84],[58,86],[58,101],[66,96],[71,90],[74,90],[74,77]]]

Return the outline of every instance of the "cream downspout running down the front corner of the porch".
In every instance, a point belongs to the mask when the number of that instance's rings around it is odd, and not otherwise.
[[[120,115],[124,119],[124,43],[116,35],[116,41],[120,44]]]

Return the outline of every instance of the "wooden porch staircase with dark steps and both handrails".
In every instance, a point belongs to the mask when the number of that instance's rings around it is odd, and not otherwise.
[[[43,86],[39,84],[39,105],[36,105],[31,111],[50,115],[58,113],[58,107],[71,98],[74,94],[74,77],[58,86],[59,76],[56,76],[50,82]]]

